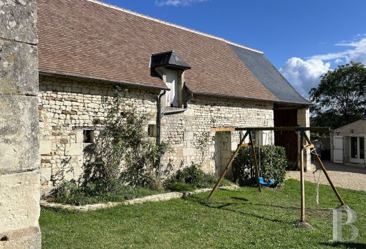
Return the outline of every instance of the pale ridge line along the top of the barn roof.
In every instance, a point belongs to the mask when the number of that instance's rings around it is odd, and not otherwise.
[[[218,40],[220,40],[220,41],[222,41],[222,42],[226,42],[227,44],[231,44],[231,45],[233,45],[233,46],[238,46],[238,47],[240,47],[240,48],[244,48],[244,49],[247,49],[247,50],[251,50],[251,51],[253,51],[253,52],[256,52],[256,53],[261,53],[261,54],[263,54],[263,52],[262,52],[262,51],[257,50],[257,49],[255,49],[255,48],[250,48],[250,47],[248,47],[248,46],[243,46],[243,45],[241,45],[241,44],[237,44],[237,43],[235,43],[235,42],[230,42],[229,40],[224,39],[224,38],[222,38],[222,37],[218,37],[218,36],[215,36],[215,35],[210,35],[210,34],[207,34],[207,33],[203,33],[203,32],[201,32],[201,31],[194,30],[194,29],[192,29],[192,28],[186,28],[186,27],[184,27],[184,26],[180,26],[180,25],[178,25],[178,24],[173,24],[173,23],[168,22],[168,21],[163,21],[163,20],[157,19],[157,18],[155,18],[155,17],[149,17],[148,15],[140,14],[140,13],[138,13],[138,12],[134,12],[134,11],[132,11],[132,10],[127,10],[127,9],[125,9],[125,8],[122,8],[122,7],[118,7],[118,6],[115,6],[115,5],[111,5],[110,3],[104,3],[103,1],[99,1],[99,0],[87,0],[87,1],[90,1],[90,2],[92,2],[92,3],[100,4],[100,5],[102,5],[102,6],[106,6],[106,7],[108,7],[108,8],[113,8],[113,9],[115,9],[115,10],[120,10],[120,11],[126,12],[126,13],[128,13],[128,14],[135,15],[135,16],[137,16],[137,17],[142,17],[142,18],[145,18],[145,19],[149,19],[149,20],[151,20],[151,21],[157,21],[157,22],[158,22],[158,23],[160,23],[160,24],[166,24],[166,25],[168,25],[168,26],[172,26],[172,27],[175,27],[175,28],[180,28],[180,29],[182,29],[182,30],[186,30],[186,31],[189,31],[189,32],[192,32],[192,33],[196,33],[196,34],[198,34],[198,35],[204,35],[205,37],[210,37],[210,38],[213,38],[213,39],[218,39]]]

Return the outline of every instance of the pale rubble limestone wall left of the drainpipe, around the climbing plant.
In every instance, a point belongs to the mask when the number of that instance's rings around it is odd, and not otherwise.
[[[130,88],[124,93],[124,103],[137,107],[137,111],[151,113],[150,122],[155,124],[157,94]],[[43,193],[63,180],[81,178],[83,149],[87,145],[84,131],[102,129],[99,122],[106,119],[110,108],[106,103],[114,95],[112,84],[40,75],[39,153]]]

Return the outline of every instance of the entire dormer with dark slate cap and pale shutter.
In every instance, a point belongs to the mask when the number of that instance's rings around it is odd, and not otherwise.
[[[184,70],[190,69],[188,63],[173,50],[151,55],[151,69],[160,75],[166,84],[166,107],[182,107]]]

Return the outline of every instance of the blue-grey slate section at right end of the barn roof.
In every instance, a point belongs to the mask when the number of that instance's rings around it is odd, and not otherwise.
[[[311,104],[293,89],[285,77],[269,62],[267,57],[261,53],[256,53],[248,49],[230,45],[231,49],[249,70],[264,84],[281,102],[291,102],[298,104]]]

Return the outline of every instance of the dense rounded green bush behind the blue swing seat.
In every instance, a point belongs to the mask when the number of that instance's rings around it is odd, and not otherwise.
[[[264,181],[273,178],[275,186],[282,185],[285,181],[287,166],[285,148],[262,145],[260,146],[260,155],[258,155],[258,145],[255,145],[254,148],[258,164],[260,163],[260,176],[264,178]],[[256,185],[255,170],[251,147],[243,147],[233,161],[233,181],[238,182],[239,185]]]

